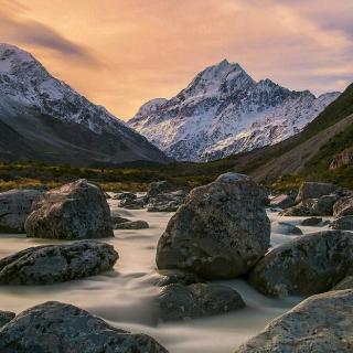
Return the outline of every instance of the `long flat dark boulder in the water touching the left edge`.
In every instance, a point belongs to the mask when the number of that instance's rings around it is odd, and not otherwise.
[[[0,285],[49,285],[110,270],[118,253],[109,244],[75,242],[30,247],[0,259]]]

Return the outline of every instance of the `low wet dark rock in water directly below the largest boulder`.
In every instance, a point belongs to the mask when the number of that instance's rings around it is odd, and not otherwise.
[[[158,302],[162,321],[210,317],[245,307],[231,287],[206,284],[169,285],[162,288]]]

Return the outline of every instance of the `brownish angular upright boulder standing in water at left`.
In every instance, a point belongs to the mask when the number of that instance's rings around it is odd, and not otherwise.
[[[113,237],[104,192],[81,179],[50,190],[33,203],[24,224],[29,237],[86,239]]]

